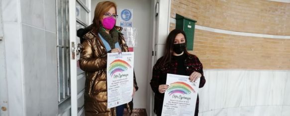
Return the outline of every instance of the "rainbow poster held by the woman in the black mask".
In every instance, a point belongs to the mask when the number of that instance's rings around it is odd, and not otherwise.
[[[192,83],[189,76],[167,74],[166,84],[161,116],[193,116],[199,79]]]

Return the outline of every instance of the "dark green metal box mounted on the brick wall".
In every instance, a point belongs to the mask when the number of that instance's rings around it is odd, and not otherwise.
[[[193,50],[195,20],[176,14],[176,27],[182,29],[187,37],[187,49]]]

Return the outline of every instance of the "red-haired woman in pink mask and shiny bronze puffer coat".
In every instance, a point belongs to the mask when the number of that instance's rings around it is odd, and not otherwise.
[[[93,24],[86,29],[78,30],[78,36],[80,36],[83,45],[80,68],[86,72],[86,116],[117,116],[118,114],[116,108],[107,109],[106,88],[107,53],[128,52],[128,46],[120,32],[122,28],[115,26],[116,18],[115,3],[102,1],[96,6]],[[135,74],[133,82],[134,92],[132,96],[138,90]],[[133,102],[127,103],[124,107],[131,115]]]

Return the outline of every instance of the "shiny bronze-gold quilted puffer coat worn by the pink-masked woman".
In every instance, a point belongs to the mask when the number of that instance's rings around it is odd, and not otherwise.
[[[115,27],[121,31],[121,27]],[[82,41],[83,49],[80,57],[80,68],[86,72],[85,84],[85,114],[86,116],[116,116],[116,109],[107,109],[107,86],[106,86],[106,63],[107,52],[104,44],[99,38],[97,31],[92,28],[87,32]],[[122,52],[128,52],[123,34],[119,32],[118,42]],[[138,89],[134,74],[135,89]],[[126,107],[132,114],[133,102]]]

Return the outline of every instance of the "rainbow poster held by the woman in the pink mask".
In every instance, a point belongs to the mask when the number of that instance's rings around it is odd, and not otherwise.
[[[132,100],[133,66],[134,52],[107,54],[107,108]]]

